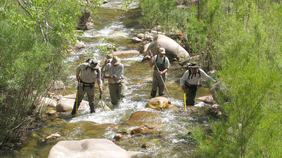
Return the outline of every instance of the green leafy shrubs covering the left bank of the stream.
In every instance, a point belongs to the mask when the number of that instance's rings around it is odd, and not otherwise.
[[[63,51],[78,24],[83,1],[0,3],[0,146],[23,135],[45,108],[39,97],[60,80]]]

